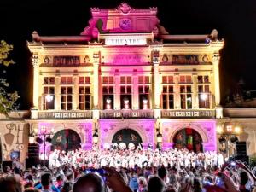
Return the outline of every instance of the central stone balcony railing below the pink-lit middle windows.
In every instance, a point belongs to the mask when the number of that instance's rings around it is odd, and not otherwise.
[[[154,110],[102,110],[100,119],[153,119]]]

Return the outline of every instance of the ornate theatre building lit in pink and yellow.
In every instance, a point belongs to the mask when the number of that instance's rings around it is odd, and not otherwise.
[[[1,121],[3,158],[18,150],[24,160],[29,137],[46,155],[94,143],[218,150],[217,127],[230,120],[219,105],[218,32],[169,34],[157,8],[90,11],[77,36],[32,33],[33,106]]]

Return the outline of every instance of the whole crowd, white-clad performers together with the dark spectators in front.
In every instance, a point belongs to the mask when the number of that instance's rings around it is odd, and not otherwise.
[[[249,192],[256,180],[256,168],[239,160],[223,162],[215,152],[79,149],[53,154],[49,168],[3,167],[0,191]]]

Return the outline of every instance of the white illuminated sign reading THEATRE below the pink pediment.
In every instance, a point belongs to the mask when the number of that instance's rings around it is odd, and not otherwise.
[[[134,36],[106,37],[105,44],[106,45],[145,45],[147,44],[147,38],[134,37]]]

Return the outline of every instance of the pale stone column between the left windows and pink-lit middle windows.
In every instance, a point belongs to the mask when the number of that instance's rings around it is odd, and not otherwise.
[[[93,119],[99,119],[99,64],[100,52],[93,54]]]

